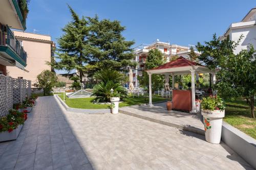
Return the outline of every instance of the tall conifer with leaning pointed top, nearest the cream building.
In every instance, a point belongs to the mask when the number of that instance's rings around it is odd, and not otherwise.
[[[48,62],[48,64],[56,69],[68,71],[76,69],[79,73],[80,83],[82,83],[82,77],[86,70],[84,66],[88,63],[92,48],[88,39],[89,21],[84,16],[79,18],[69,5],[68,8],[72,15],[72,21],[62,29],[64,34],[57,40],[59,45],[57,62]]]

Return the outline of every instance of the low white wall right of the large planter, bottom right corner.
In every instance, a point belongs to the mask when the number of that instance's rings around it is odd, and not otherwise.
[[[256,169],[256,140],[223,122],[221,140]]]

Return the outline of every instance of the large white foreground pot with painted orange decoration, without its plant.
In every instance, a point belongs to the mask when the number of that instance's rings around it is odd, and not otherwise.
[[[201,110],[204,116],[205,139],[210,143],[218,144],[221,141],[222,118],[225,110]]]

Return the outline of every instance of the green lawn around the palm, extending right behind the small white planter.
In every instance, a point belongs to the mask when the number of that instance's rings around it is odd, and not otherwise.
[[[58,96],[63,100],[63,94],[58,94]],[[93,104],[94,98],[77,98],[77,99],[69,99],[67,96],[65,98],[65,103],[72,108],[79,108],[79,109],[106,109],[110,108],[110,105],[100,105],[100,104]],[[160,102],[166,101],[168,99],[161,98],[160,96],[153,96],[152,102]],[[170,99],[169,99],[170,100]],[[138,105],[148,103],[148,98],[145,97],[128,97],[125,98],[122,102],[119,103],[119,107],[124,106],[131,106],[131,105]]]

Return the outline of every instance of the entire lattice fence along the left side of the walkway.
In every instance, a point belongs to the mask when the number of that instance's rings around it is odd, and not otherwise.
[[[0,75],[0,117],[9,113],[13,104],[31,96],[31,81]]]

